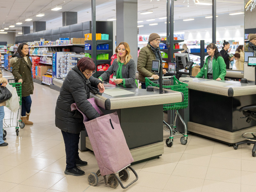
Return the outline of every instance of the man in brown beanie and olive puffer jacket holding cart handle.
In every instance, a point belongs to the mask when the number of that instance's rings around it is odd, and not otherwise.
[[[148,38],[148,44],[140,50],[138,57],[137,70],[139,71],[139,81],[141,88],[146,89],[145,77],[153,77],[159,79],[159,76],[151,72],[152,60],[160,60],[162,63],[162,55],[160,52],[160,36],[157,33],[151,33]],[[163,74],[166,70],[163,69]]]

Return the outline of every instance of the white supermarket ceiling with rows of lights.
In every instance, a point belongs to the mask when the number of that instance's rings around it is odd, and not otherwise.
[[[3,2],[3,0],[1,0]],[[185,2],[184,2],[185,1]],[[189,7],[188,7],[189,1]],[[212,0],[199,0],[200,2],[211,3]],[[183,3],[184,2],[184,3]],[[51,11],[56,6],[61,5],[59,11]],[[152,10],[152,14],[141,15],[140,12]],[[15,25],[10,30],[21,31],[21,26],[31,26],[32,21],[47,21],[46,28],[56,28],[62,26],[62,12],[78,12],[78,22],[91,20],[91,0],[7,0],[0,4],[0,29]],[[244,0],[217,0],[217,15],[230,12],[244,12]],[[45,16],[35,15],[43,12]],[[174,1],[174,20],[208,16],[212,14],[212,6],[195,5],[193,0]],[[160,22],[158,18],[166,17],[166,0],[138,0],[138,20],[143,20],[141,24]],[[32,21],[25,21],[32,18]],[[96,20],[107,20],[116,18],[116,0],[96,0]],[[155,21],[146,21],[148,19]],[[16,25],[22,22],[22,25]],[[47,26],[49,25],[49,26]],[[8,30],[7,30],[8,31]]]

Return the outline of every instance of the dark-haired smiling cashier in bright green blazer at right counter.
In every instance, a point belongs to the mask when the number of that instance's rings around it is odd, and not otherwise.
[[[202,78],[204,76],[205,79],[224,80],[227,72],[226,64],[217,46],[211,43],[207,45],[206,49],[209,56],[196,77]]]

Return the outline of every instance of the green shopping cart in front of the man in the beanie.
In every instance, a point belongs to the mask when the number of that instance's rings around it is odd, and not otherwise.
[[[152,77],[150,78],[145,77],[145,83],[146,83],[146,87],[149,85],[154,87],[159,87],[159,80],[154,80],[154,78]],[[184,95],[184,100],[182,102],[164,104],[164,110],[171,110],[171,122],[170,122],[171,124],[168,124],[163,120],[164,129],[170,132],[170,137],[167,138],[165,141],[168,147],[172,147],[173,135],[183,135],[183,137],[180,138],[180,143],[183,145],[186,145],[188,142],[187,126],[178,112],[178,109],[184,109],[188,107],[188,87],[187,86],[188,84],[180,82],[178,79],[176,79],[175,76],[163,77],[164,89],[170,89],[173,91],[182,92]],[[176,130],[177,116],[180,118],[182,124],[184,125],[184,133],[180,133]]]

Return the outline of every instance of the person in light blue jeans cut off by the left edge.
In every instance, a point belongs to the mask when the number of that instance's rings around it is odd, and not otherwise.
[[[0,52],[0,58],[2,57]],[[0,68],[0,84],[2,87],[5,87],[7,85],[7,79],[3,77],[3,73]],[[3,103],[0,103],[0,147],[7,146],[8,143],[5,143],[4,141],[6,138],[3,137],[3,119],[4,119],[4,105],[5,101]]]

